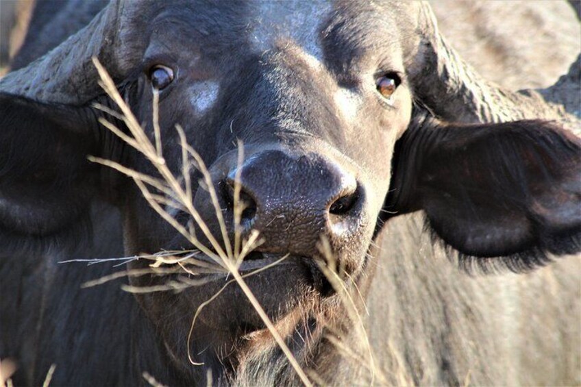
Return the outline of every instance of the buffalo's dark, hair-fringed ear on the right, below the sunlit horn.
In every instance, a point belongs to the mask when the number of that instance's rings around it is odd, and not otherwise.
[[[424,210],[465,266],[526,271],[581,251],[581,141],[556,123],[427,120],[393,163],[385,210]]]

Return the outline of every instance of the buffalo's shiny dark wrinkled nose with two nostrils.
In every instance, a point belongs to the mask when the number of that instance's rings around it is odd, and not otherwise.
[[[313,254],[321,235],[337,240],[358,227],[361,190],[354,175],[337,163],[269,150],[238,168],[220,183],[225,210],[233,212],[239,184],[240,225],[257,229],[269,251]]]

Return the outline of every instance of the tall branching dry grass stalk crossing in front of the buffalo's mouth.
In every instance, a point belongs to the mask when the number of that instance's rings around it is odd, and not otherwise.
[[[256,312],[262,319],[264,325],[267,326],[269,332],[277,342],[277,345],[280,346],[286,358],[288,358],[288,362],[293,369],[297,372],[297,375],[301,379],[306,386],[312,386],[311,382],[309,381],[306,373],[301,369],[301,366],[293,356],[293,353],[290,352],[288,346],[284,342],[284,339],[280,336],[275,329],[273,323],[267,316],[266,312],[262,309],[262,306],[254,297],[251,290],[247,286],[243,275],[240,275],[238,271],[238,267],[240,263],[243,261],[245,255],[252,251],[252,249],[256,248],[260,245],[260,240],[258,240],[258,232],[253,232],[249,238],[243,242],[240,237],[240,215],[242,214],[243,208],[240,205],[240,179],[239,175],[236,176],[236,181],[234,183],[234,231],[235,231],[235,241],[234,241],[234,249],[232,249],[232,245],[230,243],[230,239],[227,236],[227,229],[225,226],[225,221],[222,216],[221,208],[217,199],[216,192],[214,190],[214,186],[212,184],[212,179],[210,174],[208,173],[208,169],[206,168],[203,160],[201,160],[199,154],[192,149],[186,142],[186,136],[184,134],[184,130],[179,125],[176,126],[177,132],[180,136],[180,142],[182,146],[182,176],[184,178],[184,182],[186,183],[186,187],[182,188],[180,181],[173,175],[170,171],[169,167],[166,165],[166,162],[162,156],[162,149],[161,149],[161,137],[160,137],[160,130],[157,123],[153,123],[154,125],[154,135],[156,140],[156,145],[153,145],[149,140],[149,137],[143,130],[143,128],[139,125],[136,117],[132,114],[129,106],[121,95],[119,95],[118,90],[110,76],[108,75],[107,71],[97,58],[93,58],[93,63],[97,67],[97,71],[99,71],[99,75],[101,77],[101,82],[99,85],[107,92],[109,97],[113,99],[116,105],[121,109],[121,114],[114,114],[116,118],[121,118],[122,121],[125,123],[131,136],[123,133],[119,128],[115,127],[107,121],[105,118],[99,119],[99,122],[103,124],[107,129],[109,129],[112,133],[116,136],[119,136],[121,140],[125,141],[127,145],[133,147],[139,153],[145,155],[145,158],[151,162],[151,164],[156,168],[156,171],[160,173],[161,179],[156,179],[155,177],[147,176],[143,173],[135,171],[131,168],[127,168],[119,163],[112,162],[111,160],[104,160],[101,158],[90,158],[93,162],[97,162],[99,164],[103,164],[105,166],[110,166],[111,168],[116,169],[129,177],[132,177],[140,191],[142,192],[143,196],[151,205],[151,208],[155,210],[165,221],[167,221],[172,227],[174,227],[177,232],[180,232],[188,242],[190,242],[196,249],[201,251],[203,255],[210,258],[215,264],[221,266],[223,269],[226,269],[230,275],[234,278],[234,281],[240,288],[243,290],[247,298],[249,299],[251,305],[255,308]],[[156,97],[154,93],[154,104],[156,102]],[[102,108],[102,106],[95,106],[96,108]],[[105,109],[102,109],[105,110]],[[158,110],[154,108],[154,121],[158,121]],[[157,119],[156,119],[157,118]],[[239,155],[238,160],[243,160],[243,154],[241,152],[242,147],[241,145],[238,147]],[[190,158],[193,159],[193,162],[190,162]],[[219,243],[214,235],[210,232],[210,229],[206,226],[206,223],[203,222],[200,214],[193,206],[192,201],[192,192],[190,191],[190,182],[188,180],[188,176],[190,174],[190,166],[194,165],[203,175],[203,180],[208,188],[208,192],[210,193],[210,198],[212,199],[212,204],[214,205],[214,209],[216,210],[216,216],[219,221],[220,229],[221,229],[221,236],[223,238],[223,244]],[[239,169],[239,168],[238,168]],[[158,192],[162,192],[166,197],[162,197],[154,192],[151,192],[151,188],[158,190]],[[162,200],[160,200],[163,198]],[[171,200],[167,199],[170,198]],[[195,228],[193,223],[190,223],[189,227],[186,229],[181,223],[176,221],[169,212],[167,212],[162,205],[167,205],[170,201],[175,201],[175,205],[179,205],[182,210],[185,210],[195,221],[195,226],[199,228],[199,230],[203,233],[203,235],[208,239],[210,242],[211,248],[206,247],[203,243],[199,242],[195,235]],[[238,207],[238,209],[236,209]],[[140,291],[136,288],[126,288],[126,290],[130,291]],[[147,290],[147,289],[146,289]],[[151,290],[151,289],[149,289]],[[158,289],[153,289],[158,290]],[[217,297],[217,296],[214,296]],[[202,305],[201,305],[202,307]],[[200,308],[201,308],[200,307]],[[196,312],[196,315],[199,312]],[[188,346],[190,340],[188,339]],[[190,351],[188,348],[188,357],[190,356]],[[190,361],[192,361],[190,359]],[[193,362],[193,361],[192,361]]]

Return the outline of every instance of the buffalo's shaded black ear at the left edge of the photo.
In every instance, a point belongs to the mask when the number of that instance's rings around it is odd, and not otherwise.
[[[86,212],[97,138],[80,110],[0,93],[0,240],[58,234]]]

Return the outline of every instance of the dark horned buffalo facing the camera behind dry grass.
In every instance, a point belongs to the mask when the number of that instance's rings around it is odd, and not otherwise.
[[[14,384],[42,384],[51,364],[74,386],[581,381],[579,261],[557,259],[581,251],[579,58],[554,86],[512,92],[462,61],[423,2],[40,4],[46,34],[0,80]],[[158,170],[96,63],[199,219],[159,186],[156,210],[143,178],[119,173]],[[187,169],[184,138],[199,155]],[[449,260],[411,253],[419,228]],[[263,269],[245,281],[302,376],[228,273],[131,258],[201,247],[210,262],[256,235],[238,269]],[[119,267],[63,263],[121,257],[126,275],[89,288]],[[203,284],[155,291],[189,277]]]

